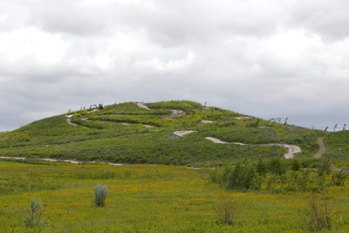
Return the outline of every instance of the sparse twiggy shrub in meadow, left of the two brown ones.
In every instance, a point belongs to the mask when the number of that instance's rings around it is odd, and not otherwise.
[[[238,205],[232,193],[220,190],[216,206],[218,220],[225,225],[233,225],[238,214]]]

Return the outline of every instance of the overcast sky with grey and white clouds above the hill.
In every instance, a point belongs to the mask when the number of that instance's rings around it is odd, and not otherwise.
[[[348,0],[0,0],[0,130],[182,99],[349,124],[348,12]]]

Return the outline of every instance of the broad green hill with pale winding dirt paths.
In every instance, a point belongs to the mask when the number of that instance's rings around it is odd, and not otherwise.
[[[325,153],[313,158],[319,138]],[[345,167],[348,151],[348,130],[325,133],[186,100],[70,112],[0,134],[0,156],[112,163],[213,167],[237,158],[295,156],[304,165],[329,158]]]

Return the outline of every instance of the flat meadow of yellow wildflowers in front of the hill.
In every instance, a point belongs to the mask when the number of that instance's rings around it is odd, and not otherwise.
[[[220,187],[209,169],[168,165],[73,165],[0,162],[0,232],[308,232],[310,193],[233,190],[234,225],[218,222]],[[105,207],[94,206],[94,186],[109,188]],[[347,232],[348,184],[329,188],[334,226]],[[43,224],[24,227],[31,198],[43,202]]]

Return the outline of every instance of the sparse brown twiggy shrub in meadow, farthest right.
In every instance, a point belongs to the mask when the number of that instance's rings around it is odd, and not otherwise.
[[[332,227],[334,199],[313,194],[308,200],[307,223],[311,229],[323,230]]]

